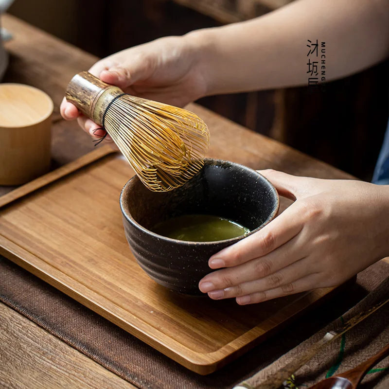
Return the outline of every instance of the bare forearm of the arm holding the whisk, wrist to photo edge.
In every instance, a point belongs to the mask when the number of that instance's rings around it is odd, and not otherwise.
[[[208,94],[306,85],[308,39],[326,44],[326,80],[388,56],[389,1],[298,0],[263,17],[185,38],[202,51]]]

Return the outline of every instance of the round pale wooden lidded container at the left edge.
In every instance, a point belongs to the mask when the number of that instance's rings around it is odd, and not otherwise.
[[[48,172],[53,101],[42,90],[0,84],[0,185],[24,184]]]

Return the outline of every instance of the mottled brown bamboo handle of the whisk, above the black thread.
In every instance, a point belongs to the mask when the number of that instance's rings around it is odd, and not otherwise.
[[[106,84],[88,71],[76,74],[66,88],[66,100],[85,116],[103,125],[103,115],[109,103],[123,90]]]

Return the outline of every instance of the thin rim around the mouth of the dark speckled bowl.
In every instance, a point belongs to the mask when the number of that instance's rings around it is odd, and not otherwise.
[[[163,239],[164,241],[166,242],[171,242],[171,243],[175,243],[175,244],[182,244],[182,245],[193,245],[193,246],[211,246],[211,245],[214,245],[214,244],[217,244],[217,243],[236,243],[238,242],[239,240],[241,240],[243,237],[246,238],[248,237],[249,235],[261,230],[263,227],[265,227],[266,224],[270,223],[274,217],[276,216],[279,208],[280,208],[280,196],[276,190],[276,188],[274,187],[274,185],[265,177],[263,176],[261,173],[259,173],[257,170],[254,170],[254,169],[251,169],[249,168],[248,166],[245,166],[245,165],[241,165],[239,163],[236,163],[236,162],[232,162],[232,161],[228,161],[228,160],[225,160],[225,159],[215,159],[215,158],[204,158],[204,165],[206,164],[206,162],[211,162],[213,165],[220,165],[220,164],[228,164],[230,165],[231,167],[235,168],[235,169],[243,169],[243,170],[246,170],[250,173],[254,173],[257,177],[261,177],[261,179],[263,181],[265,181],[269,188],[271,189],[273,195],[275,195],[275,198],[276,198],[276,202],[275,202],[275,206],[274,206],[274,209],[273,211],[269,214],[269,216],[266,218],[266,220],[260,225],[258,226],[257,228],[255,228],[254,230],[251,230],[250,232],[248,232],[247,234],[243,234],[243,235],[239,235],[239,236],[236,236],[234,238],[230,238],[230,239],[223,239],[223,240],[217,240],[217,241],[207,241],[207,242],[194,242],[194,241],[185,241],[185,240],[180,240],[180,239],[174,239],[174,238],[169,238],[167,236],[163,236],[163,235],[159,235],[157,234],[156,232],[153,232],[151,230],[148,230],[146,229],[145,227],[143,227],[141,224],[139,224],[133,217],[131,214],[127,214],[127,212],[124,210],[124,205],[123,205],[123,198],[124,198],[124,192],[125,190],[127,189],[128,185],[130,184],[130,182],[132,180],[136,180],[136,179],[139,179],[139,177],[137,175],[134,175],[133,177],[131,177],[124,185],[121,193],[120,193],[120,209],[122,211],[122,214],[124,215],[124,217],[126,218],[126,220],[131,223],[134,227],[138,228],[139,230],[141,230],[142,232],[146,233],[146,234],[149,234],[155,238],[158,238],[158,239]]]

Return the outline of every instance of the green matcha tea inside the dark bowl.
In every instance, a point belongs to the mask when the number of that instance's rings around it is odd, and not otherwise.
[[[231,220],[213,215],[182,215],[158,223],[153,232],[168,238],[213,242],[235,238],[250,232],[246,227]]]

